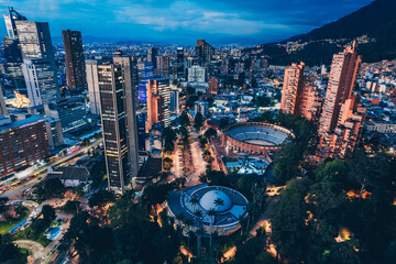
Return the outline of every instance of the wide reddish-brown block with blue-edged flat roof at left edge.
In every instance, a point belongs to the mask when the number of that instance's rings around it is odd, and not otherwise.
[[[50,155],[45,121],[31,117],[0,125],[0,177]]]

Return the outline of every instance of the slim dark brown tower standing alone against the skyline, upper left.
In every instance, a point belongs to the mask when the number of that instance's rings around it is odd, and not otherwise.
[[[86,73],[81,32],[62,31],[65,47],[66,81],[68,89],[84,89]]]

